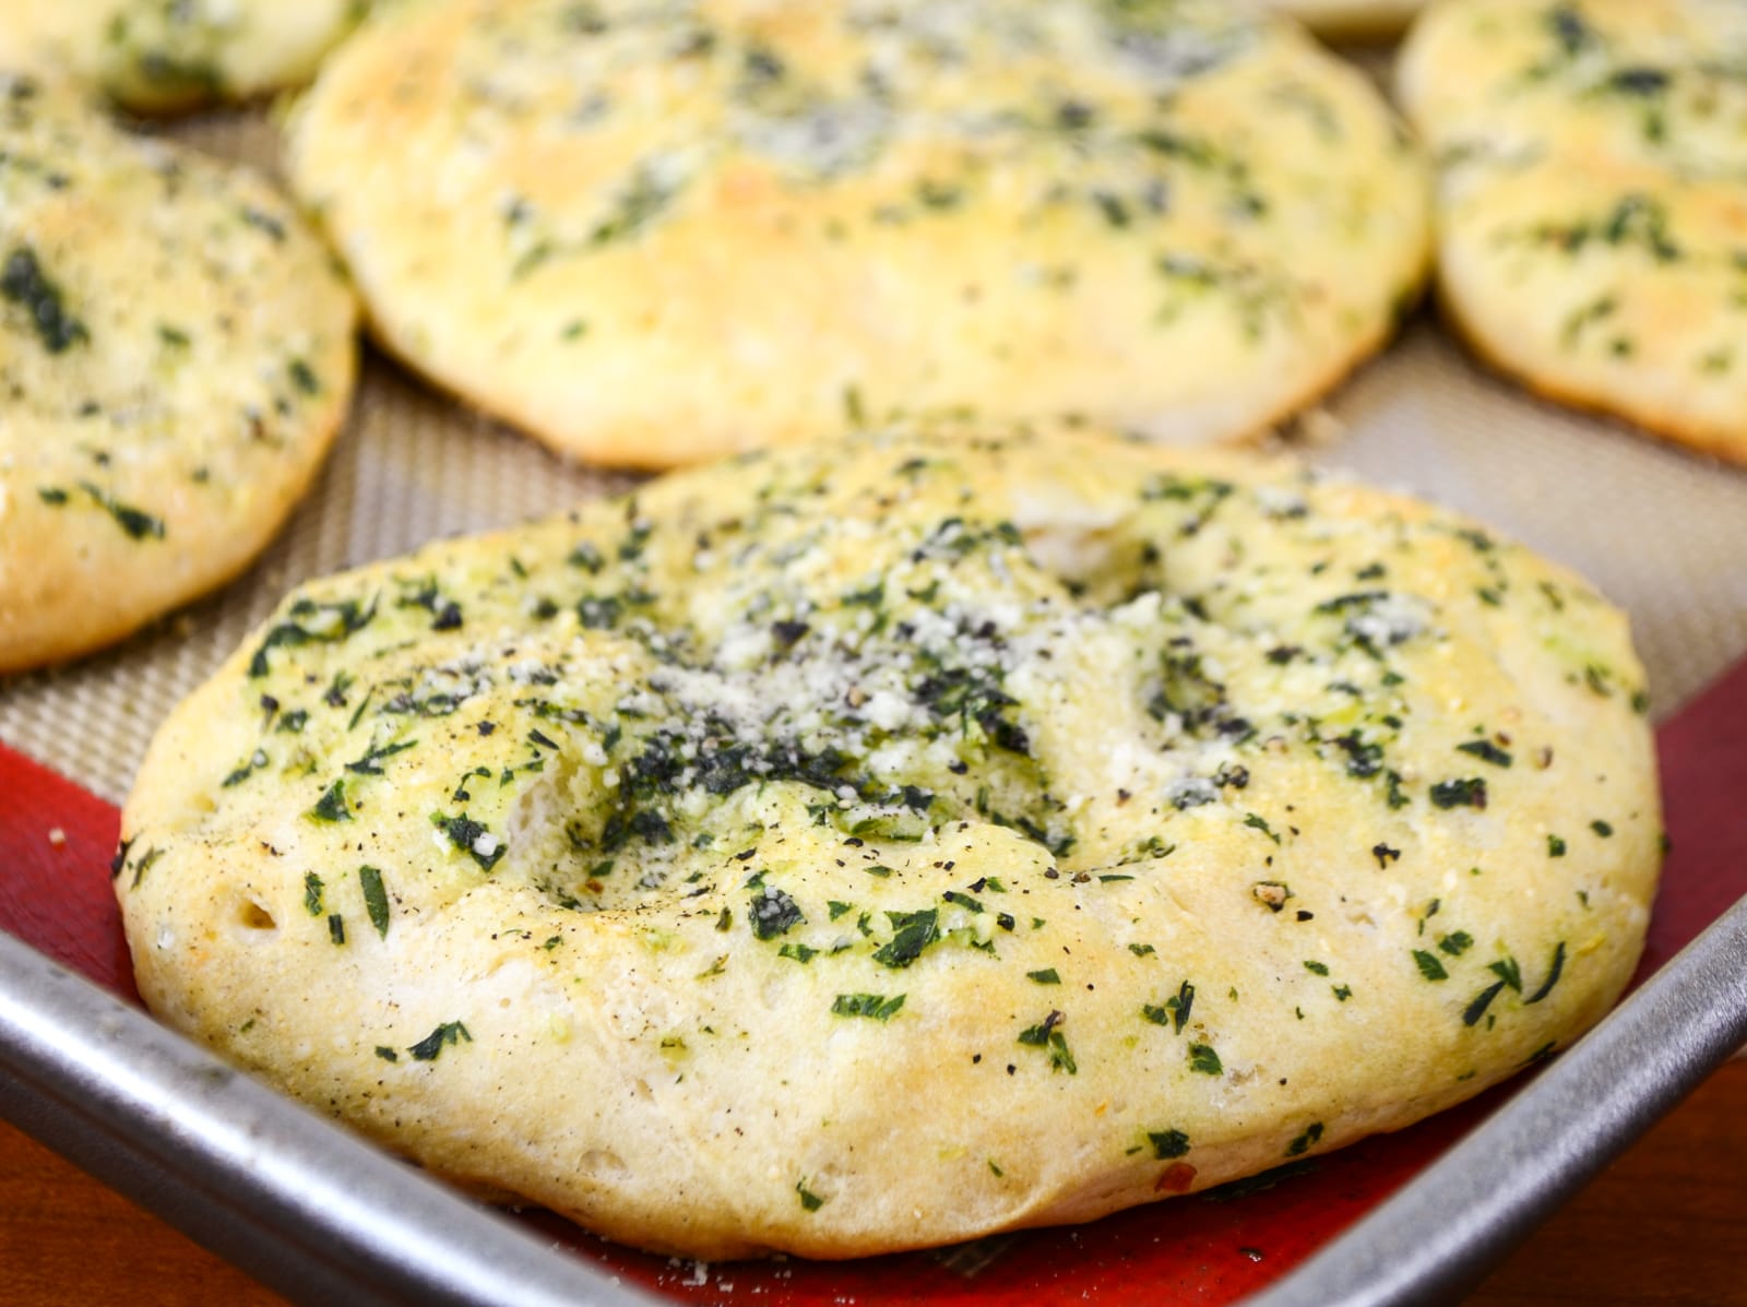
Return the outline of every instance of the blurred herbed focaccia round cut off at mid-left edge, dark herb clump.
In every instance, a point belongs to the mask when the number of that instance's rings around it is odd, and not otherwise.
[[[266,180],[0,75],[0,671],[239,571],[339,428],[355,327]]]

